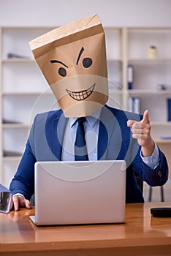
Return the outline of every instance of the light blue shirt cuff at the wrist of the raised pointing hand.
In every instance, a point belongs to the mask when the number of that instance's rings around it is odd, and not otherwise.
[[[145,165],[148,165],[151,169],[155,169],[159,165],[159,148],[154,143],[154,150],[150,157],[142,157],[142,150],[141,150],[141,158],[142,161],[145,162]]]

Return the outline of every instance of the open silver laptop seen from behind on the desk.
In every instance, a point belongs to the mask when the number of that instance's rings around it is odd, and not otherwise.
[[[125,220],[124,160],[36,162],[36,225],[120,223]]]

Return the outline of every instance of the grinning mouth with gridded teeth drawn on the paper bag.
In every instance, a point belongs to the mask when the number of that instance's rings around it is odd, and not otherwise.
[[[72,97],[72,99],[83,100],[88,98],[92,94],[95,86],[96,83],[94,83],[93,86],[89,87],[87,90],[84,91],[69,91],[68,89],[66,89],[66,92],[67,94],[69,94],[70,97]]]

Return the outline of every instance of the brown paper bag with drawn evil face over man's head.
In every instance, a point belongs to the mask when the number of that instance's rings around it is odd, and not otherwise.
[[[106,47],[97,15],[53,29],[29,44],[66,117],[88,116],[105,105]]]

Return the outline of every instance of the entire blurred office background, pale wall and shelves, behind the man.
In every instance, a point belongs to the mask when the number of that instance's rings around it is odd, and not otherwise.
[[[0,0],[1,184],[9,187],[34,116],[58,108],[28,42],[94,14],[106,35],[109,104],[149,109],[153,138],[171,163],[170,10],[170,0]],[[143,192],[146,201],[171,201],[171,180]]]

